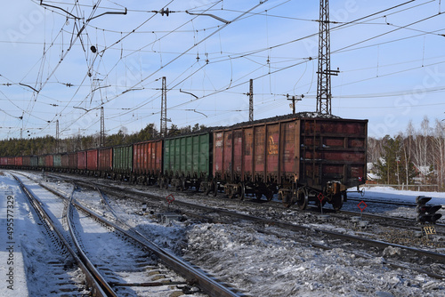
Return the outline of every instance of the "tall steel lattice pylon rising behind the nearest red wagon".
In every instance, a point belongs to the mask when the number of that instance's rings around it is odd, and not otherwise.
[[[317,112],[331,115],[331,76],[339,70],[331,70],[328,0],[320,0],[319,68],[317,71]]]

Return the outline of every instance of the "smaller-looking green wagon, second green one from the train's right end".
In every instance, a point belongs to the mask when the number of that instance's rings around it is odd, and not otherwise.
[[[133,181],[133,144],[113,148],[114,180]]]

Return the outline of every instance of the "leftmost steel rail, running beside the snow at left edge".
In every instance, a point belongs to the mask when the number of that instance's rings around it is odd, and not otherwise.
[[[42,221],[45,222],[45,224],[49,224],[51,226],[51,229],[53,229],[53,232],[59,237],[61,240],[61,243],[64,245],[64,247],[67,249],[67,251],[71,254],[73,259],[76,261],[77,266],[83,271],[85,274],[85,281],[86,284],[91,288],[92,296],[94,297],[108,297],[109,295],[105,293],[101,285],[96,281],[95,277],[93,277],[93,274],[90,272],[89,269],[85,266],[85,264],[80,260],[80,258],[77,256],[77,253],[71,248],[69,245],[68,240],[61,234],[61,231],[55,226],[53,220],[51,217],[46,213],[44,210],[42,203],[28,190],[28,188],[23,184],[20,179],[14,175],[11,174],[12,177],[19,182],[20,189],[25,194],[25,196],[28,198],[29,203],[34,207]]]

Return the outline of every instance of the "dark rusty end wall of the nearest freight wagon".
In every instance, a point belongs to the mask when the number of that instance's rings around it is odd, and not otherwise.
[[[352,187],[366,179],[367,121],[305,119],[300,179],[322,189],[328,181]]]

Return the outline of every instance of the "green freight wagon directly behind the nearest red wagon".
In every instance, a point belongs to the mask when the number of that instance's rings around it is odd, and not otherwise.
[[[189,134],[164,140],[164,174],[174,189],[199,189],[211,173],[211,134]],[[166,180],[161,186],[166,187]]]

